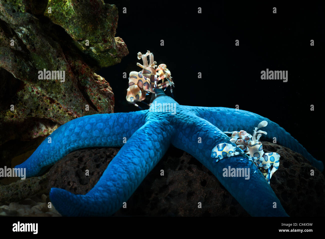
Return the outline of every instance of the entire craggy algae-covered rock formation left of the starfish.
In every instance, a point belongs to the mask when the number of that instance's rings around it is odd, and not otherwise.
[[[114,112],[110,84],[95,71],[128,54],[117,20],[102,0],[0,0],[0,167],[22,153],[13,145]]]

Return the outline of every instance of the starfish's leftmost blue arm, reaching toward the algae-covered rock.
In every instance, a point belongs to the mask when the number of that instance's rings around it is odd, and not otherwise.
[[[26,177],[42,174],[68,153],[86,147],[122,146],[145,122],[148,110],[96,114],[73,119],[56,129],[33,154],[15,168],[26,168]],[[50,142],[50,143],[49,143]]]

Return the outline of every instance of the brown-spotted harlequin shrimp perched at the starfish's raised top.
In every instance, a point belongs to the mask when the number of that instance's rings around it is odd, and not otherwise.
[[[147,60],[148,56],[149,63]],[[146,54],[138,52],[138,59],[142,59],[143,65],[138,62],[136,65],[141,67],[142,70],[139,72],[130,72],[126,100],[136,107],[139,107],[135,102],[142,102],[149,93],[156,93],[156,89],[170,86],[171,93],[173,94],[172,86],[174,86],[174,82],[170,76],[170,71],[166,68],[167,66],[165,64],[160,64],[157,67],[157,62],[154,61],[153,54],[150,53],[150,51],[147,51]]]

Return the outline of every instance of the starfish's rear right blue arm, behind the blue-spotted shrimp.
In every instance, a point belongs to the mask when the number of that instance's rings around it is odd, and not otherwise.
[[[237,131],[245,130],[251,133],[258,125],[259,122],[266,120],[268,122],[263,131],[267,135],[263,135],[263,139],[272,142],[273,137],[276,137],[279,145],[290,148],[305,156],[318,170],[323,171],[324,165],[321,161],[314,158],[308,151],[301,145],[290,133],[286,132],[277,123],[262,117],[258,114],[246,111],[236,110],[233,108],[225,107],[189,107],[195,114],[203,119],[206,119],[214,126],[218,127],[221,131]]]

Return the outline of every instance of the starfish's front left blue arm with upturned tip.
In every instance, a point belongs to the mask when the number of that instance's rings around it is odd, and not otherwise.
[[[164,155],[170,145],[170,128],[167,120],[147,121],[127,139],[86,195],[51,188],[51,202],[64,216],[110,216],[123,206]]]

